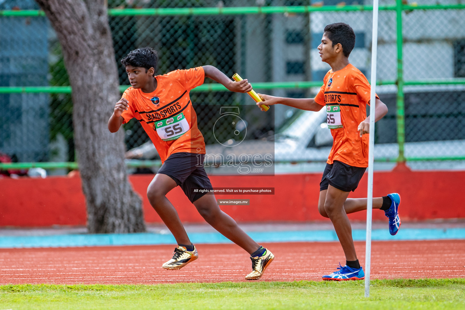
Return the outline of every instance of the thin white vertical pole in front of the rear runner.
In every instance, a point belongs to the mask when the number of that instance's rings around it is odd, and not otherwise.
[[[365,297],[370,296],[372,258],[373,151],[375,133],[376,57],[378,54],[378,0],[373,0],[372,74],[370,92],[370,138],[368,147],[368,192],[366,202]]]

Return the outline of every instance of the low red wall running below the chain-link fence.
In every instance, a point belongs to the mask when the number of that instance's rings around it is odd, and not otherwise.
[[[129,177],[135,191],[143,198],[146,222],[161,219],[146,198],[147,185],[153,175]],[[320,174],[288,174],[274,177],[210,177],[213,187],[274,187],[274,195],[217,195],[217,198],[250,199],[250,205],[221,206],[238,222],[323,221],[317,210]],[[357,191],[349,197],[366,195],[366,174]],[[374,197],[398,192],[401,197],[402,220],[433,218],[465,218],[465,171],[457,172],[376,172]],[[203,219],[179,187],[167,197],[184,222],[203,223]],[[366,213],[349,215],[365,220]],[[373,211],[373,219],[385,220],[382,211]],[[86,205],[79,177],[1,178],[0,226],[85,225]]]

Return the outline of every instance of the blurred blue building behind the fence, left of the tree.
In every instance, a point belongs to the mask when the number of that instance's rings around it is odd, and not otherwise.
[[[0,0],[0,10],[38,9],[33,0]],[[0,86],[46,86],[46,17],[0,17]],[[49,95],[0,94],[0,151],[18,161],[48,158]]]

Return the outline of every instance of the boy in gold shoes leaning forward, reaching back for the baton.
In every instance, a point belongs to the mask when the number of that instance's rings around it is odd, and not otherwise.
[[[126,67],[131,87],[116,103],[108,129],[117,132],[122,124],[136,118],[160,155],[163,165],[148,185],[147,197],[178,243],[173,258],[162,267],[180,269],[198,257],[176,209],[166,198],[166,194],[179,185],[208,224],[250,254],[252,272],[246,279],[259,279],[272,262],[273,254],[253,241],[233,218],[221,211],[214,195],[193,191],[194,188],[211,190],[212,184],[203,167],[205,142],[189,98],[189,91],[202,85],[205,77],[233,92],[249,92],[252,86],[247,80],[232,81],[214,66],[155,76],[158,54],[150,47],[130,52],[121,63]]]

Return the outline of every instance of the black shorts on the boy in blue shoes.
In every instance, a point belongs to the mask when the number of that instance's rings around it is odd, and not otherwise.
[[[355,191],[365,170],[366,168],[353,167],[337,160],[332,165],[326,163],[320,191],[327,190],[330,184],[341,191]]]

